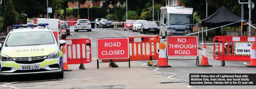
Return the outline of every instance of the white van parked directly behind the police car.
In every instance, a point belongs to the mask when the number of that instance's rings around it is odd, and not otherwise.
[[[52,31],[58,31],[58,40],[61,39],[62,33],[61,33],[61,25],[59,19],[52,19],[52,18],[37,18],[36,20],[37,24],[39,23],[48,23],[49,25],[46,27],[49,27],[52,29]]]

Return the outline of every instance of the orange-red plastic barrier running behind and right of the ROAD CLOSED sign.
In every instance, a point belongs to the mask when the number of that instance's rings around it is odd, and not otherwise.
[[[160,36],[129,37],[130,61],[150,60],[150,58],[152,58],[152,60],[158,59],[159,43]],[[110,59],[101,61],[110,62]],[[112,59],[112,62],[117,61],[129,61],[129,59]]]

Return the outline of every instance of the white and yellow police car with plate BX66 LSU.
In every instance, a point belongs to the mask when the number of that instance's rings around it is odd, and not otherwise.
[[[13,25],[1,47],[1,76],[56,73],[57,79],[63,78],[62,45],[66,41],[57,40],[47,25]]]

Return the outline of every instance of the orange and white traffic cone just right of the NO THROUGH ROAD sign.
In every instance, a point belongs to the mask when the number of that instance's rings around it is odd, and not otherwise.
[[[209,65],[208,63],[208,58],[207,58],[207,52],[206,52],[206,44],[204,43],[204,48],[203,48],[203,55],[202,55],[202,61],[200,65],[201,67],[212,67],[212,65]]]

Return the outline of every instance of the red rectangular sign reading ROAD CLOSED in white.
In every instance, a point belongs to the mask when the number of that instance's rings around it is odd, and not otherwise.
[[[128,59],[129,38],[97,38],[98,59]]]

